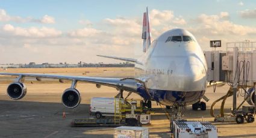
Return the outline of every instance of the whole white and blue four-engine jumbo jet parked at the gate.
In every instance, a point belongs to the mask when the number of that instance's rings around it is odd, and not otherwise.
[[[140,59],[118,58],[103,56],[105,58],[119,59],[134,62],[136,78],[102,78],[84,76],[61,76],[52,74],[28,73],[0,73],[1,75],[17,76],[7,88],[8,96],[19,100],[27,94],[27,87],[23,83],[25,77],[72,80],[61,97],[62,103],[68,108],[75,108],[80,104],[80,92],[76,83],[83,81],[110,86],[122,91],[139,94],[148,107],[151,101],[165,106],[188,106],[193,109],[205,110],[205,103],[200,102],[207,88],[207,64],[204,53],[196,38],[185,29],[172,29],[164,32],[151,42],[148,8],[143,14],[143,56]],[[102,55],[98,55],[102,56]]]

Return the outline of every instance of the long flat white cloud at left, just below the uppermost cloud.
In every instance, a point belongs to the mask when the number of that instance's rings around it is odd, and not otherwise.
[[[14,37],[28,37],[28,38],[46,38],[46,37],[58,37],[62,34],[61,31],[58,31],[54,28],[20,28],[14,27],[13,25],[6,24],[2,27],[2,31],[6,35],[11,35]]]

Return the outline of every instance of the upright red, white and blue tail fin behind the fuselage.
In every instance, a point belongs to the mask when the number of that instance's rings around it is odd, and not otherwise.
[[[143,52],[146,52],[146,50],[148,50],[151,44],[151,31],[149,26],[148,7],[146,7],[146,12],[143,13],[142,39],[143,39]]]

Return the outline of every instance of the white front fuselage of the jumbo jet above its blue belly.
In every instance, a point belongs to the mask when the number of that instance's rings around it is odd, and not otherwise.
[[[172,36],[189,36],[193,40],[170,41]],[[204,53],[195,37],[184,29],[172,29],[161,34],[140,62],[143,64],[136,64],[136,75],[146,81],[148,89],[179,92],[206,89]]]

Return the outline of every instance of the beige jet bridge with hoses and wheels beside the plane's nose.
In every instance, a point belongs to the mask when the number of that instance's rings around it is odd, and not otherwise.
[[[226,51],[206,51],[208,82],[226,82],[230,86],[229,91],[211,105],[211,116],[215,121],[236,121],[243,123],[254,122],[256,109],[256,42],[244,41],[226,43]],[[216,88],[216,87],[215,87]],[[242,103],[237,106],[237,96],[244,97]],[[224,115],[226,98],[233,96],[233,110],[231,116]],[[220,115],[214,115],[214,105],[222,100]],[[243,106],[245,101],[251,106]],[[240,109],[242,107],[242,110]]]

